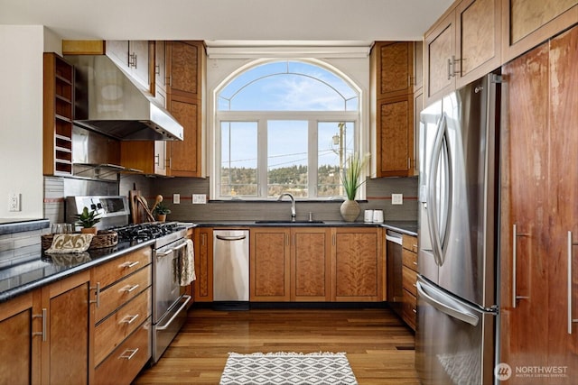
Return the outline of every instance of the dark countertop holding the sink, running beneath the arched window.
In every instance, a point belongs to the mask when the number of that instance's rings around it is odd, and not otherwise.
[[[239,220],[239,221],[203,221],[194,222],[199,227],[385,227],[391,230],[396,230],[403,234],[417,235],[417,221],[386,221],[383,224],[365,223],[365,222],[344,222],[344,221],[323,221],[322,224],[315,222],[284,222],[275,224],[256,223],[254,220]]]

